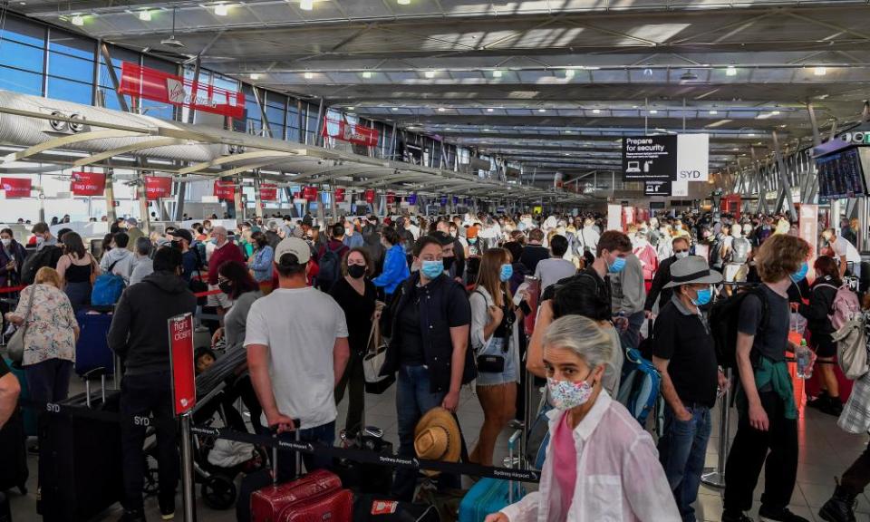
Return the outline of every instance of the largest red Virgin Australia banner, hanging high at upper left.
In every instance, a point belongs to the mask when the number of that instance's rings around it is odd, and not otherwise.
[[[230,118],[245,117],[245,94],[242,92],[192,82],[136,63],[121,63],[121,88],[118,92]]]

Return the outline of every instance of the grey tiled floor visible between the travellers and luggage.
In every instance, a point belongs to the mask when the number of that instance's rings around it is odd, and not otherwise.
[[[369,425],[378,426],[385,432],[385,438],[398,445],[396,414],[395,414],[395,386],[383,395],[368,395],[366,397],[366,420]],[[339,407],[339,428],[343,427],[343,413],[346,404]],[[732,410],[732,413],[734,411]],[[708,466],[715,466],[718,459],[719,448],[719,413],[714,413],[714,437],[710,439],[707,449]],[[477,398],[465,388],[462,391],[462,400],[459,405],[459,420],[462,430],[473,448],[478,439],[478,430],[482,424],[482,413]],[[734,436],[736,419],[731,419],[732,429],[730,436]],[[864,450],[867,437],[864,435],[849,435],[836,427],[836,419],[815,410],[803,409],[799,420],[800,457],[797,470],[797,487],[792,496],[791,509],[810,521],[819,522],[817,517],[818,508],[830,497],[834,491],[834,477],[838,477],[849,464]],[[498,442],[496,462],[507,456],[507,438],[510,430],[505,430]],[[36,459],[31,458],[31,469],[36,469]],[[30,480],[30,493],[26,497],[12,493],[13,519],[15,522],[38,521],[40,517],[35,514],[35,473]],[[759,488],[756,490],[756,506],[751,514],[758,519],[758,499],[761,496],[764,480],[759,479]],[[178,506],[180,509],[180,498]],[[147,503],[150,520],[160,520],[160,513],[156,500],[149,499]],[[697,503],[697,516],[699,520],[719,521],[722,512],[721,492],[715,488],[701,487]],[[870,517],[870,500],[864,495],[860,496],[858,512],[863,514],[859,517]],[[115,507],[104,513],[98,520],[115,520],[120,515],[120,508]],[[178,519],[181,519],[180,513]],[[235,520],[235,512],[213,511],[198,502],[198,519],[209,522],[230,522]],[[860,518],[859,518],[860,519]]]

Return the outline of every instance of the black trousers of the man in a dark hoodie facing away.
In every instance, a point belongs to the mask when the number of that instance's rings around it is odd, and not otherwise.
[[[175,506],[179,482],[179,450],[172,408],[169,372],[124,375],[121,381],[121,451],[124,463],[124,501],[128,510],[140,510],[145,486],[145,430],[133,416],[152,417],[157,430],[157,465],[161,508]]]

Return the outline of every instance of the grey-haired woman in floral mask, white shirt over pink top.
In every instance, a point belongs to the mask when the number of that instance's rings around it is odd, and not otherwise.
[[[652,437],[602,388],[613,349],[610,336],[580,315],[547,328],[546,385],[556,409],[547,414],[540,488],[486,522],[681,520]]]

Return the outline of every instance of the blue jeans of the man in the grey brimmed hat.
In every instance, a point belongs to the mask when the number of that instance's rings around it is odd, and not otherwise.
[[[701,473],[710,440],[710,408],[687,406],[691,420],[678,420],[670,406],[664,409],[664,433],[659,439],[659,460],[677,501],[683,522],[695,522],[691,503],[698,497]]]

